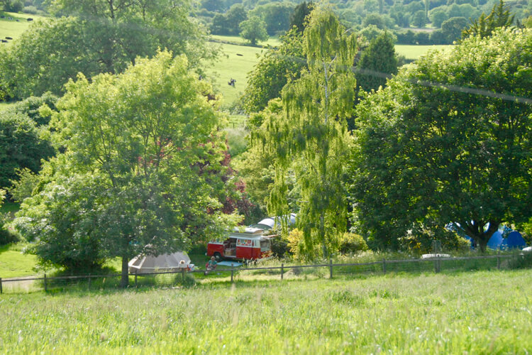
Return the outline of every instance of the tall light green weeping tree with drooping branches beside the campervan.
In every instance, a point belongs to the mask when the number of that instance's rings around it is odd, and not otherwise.
[[[350,145],[346,118],[353,110],[355,53],[355,36],[332,11],[314,10],[304,31],[308,70],[282,90],[283,114],[271,116],[257,132],[257,141],[274,156],[268,210],[289,212],[286,177],[293,171],[301,191],[297,224],[309,257],[328,257],[336,236],[345,231],[343,167]]]

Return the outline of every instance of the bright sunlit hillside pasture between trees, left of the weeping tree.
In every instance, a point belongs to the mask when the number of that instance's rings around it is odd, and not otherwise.
[[[257,55],[265,49],[245,45],[223,43],[223,55],[214,64],[206,63],[206,72],[214,77],[214,87],[223,95],[223,104],[231,104],[244,92],[248,84],[248,72],[258,62]],[[235,87],[228,85],[231,78],[235,79]]]

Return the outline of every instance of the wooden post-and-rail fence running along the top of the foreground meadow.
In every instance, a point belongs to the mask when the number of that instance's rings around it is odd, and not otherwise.
[[[497,269],[501,268],[501,259],[507,259],[507,258],[514,258],[515,254],[497,254],[497,255],[490,255],[490,256],[458,256],[458,257],[451,257],[451,258],[444,258],[444,257],[435,257],[435,258],[411,258],[411,259],[392,259],[387,260],[383,258],[379,261],[370,261],[366,263],[333,263],[332,260],[329,261],[329,263],[320,263],[320,264],[313,264],[313,265],[285,265],[282,263],[280,266],[258,266],[258,267],[250,267],[250,268],[216,268],[216,272],[231,272],[231,283],[234,282],[234,274],[235,272],[242,272],[242,271],[280,271],[280,278],[283,280],[285,271],[294,270],[294,269],[304,269],[304,268],[328,268],[329,270],[329,278],[333,278],[333,269],[334,268],[357,268],[357,267],[365,267],[365,266],[378,266],[379,270],[382,268],[382,273],[387,273],[388,271],[395,271],[391,270],[393,264],[409,264],[409,263],[433,263],[434,264],[434,272],[439,273],[441,271],[441,263],[450,263],[453,261],[472,261],[472,260],[484,260],[484,259],[497,259]],[[388,266],[388,267],[387,267]],[[375,272],[377,269],[370,270],[370,272]],[[366,271],[367,272],[367,271]],[[184,269],[182,271],[158,271],[153,273],[129,273],[128,276],[134,277],[135,280],[135,287],[138,287],[138,278],[139,277],[145,277],[145,276],[157,276],[157,275],[182,275],[184,278],[185,273],[206,273],[204,270],[193,270],[193,271],[185,271]],[[348,273],[364,273],[364,271],[348,271]],[[113,273],[113,274],[101,274],[101,275],[67,275],[67,276],[53,276],[48,277],[46,274],[43,277],[29,277],[29,278],[0,278],[0,294],[4,293],[4,286],[8,285],[9,283],[28,283],[33,281],[43,281],[43,288],[45,291],[48,291],[48,288],[51,283],[54,283],[55,281],[69,281],[69,280],[85,280],[88,282],[89,289],[91,288],[91,282],[94,279],[103,279],[104,281],[106,279],[113,279],[113,278],[121,278],[121,273]]]

